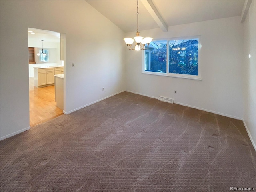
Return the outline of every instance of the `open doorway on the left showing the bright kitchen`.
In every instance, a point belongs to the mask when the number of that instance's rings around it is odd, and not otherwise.
[[[64,73],[60,44],[60,33],[28,28],[30,127],[63,114],[55,97],[55,75]]]

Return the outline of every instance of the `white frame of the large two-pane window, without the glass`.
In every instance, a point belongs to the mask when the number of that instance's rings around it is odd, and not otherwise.
[[[184,40],[184,39],[194,39],[198,38],[198,75],[187,75],[187,74],[178,74],[178,73],[170,73],[169,72],[169,42],[172,40]],[[145,71],[145,50],[142,51],[142,73],[143,74],[151,74],[151,75],[159,75],[159,76],[168,76],[168,77],[176,77],[176,78],[185,78],[185,79],[193,79],[193,80],[202,80],[201,76],[201,35],[197,36],[186,36],[186,37],[175,37],[175,38],[164,38],[164,39],[154,39],[154,41],[167,41],[167,60],[166,60],[166,73],[161,72],[150,72]]]

